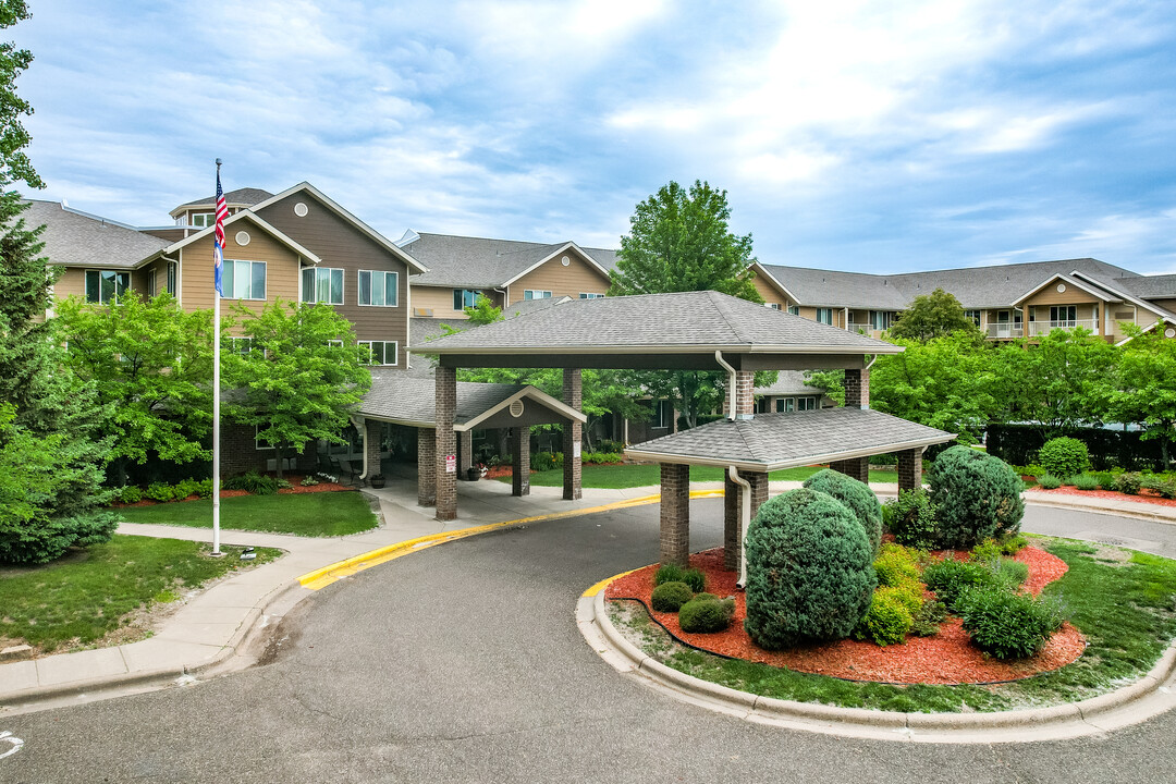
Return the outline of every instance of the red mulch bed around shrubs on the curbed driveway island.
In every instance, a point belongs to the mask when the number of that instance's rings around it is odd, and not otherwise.
[[[1041,592],[1048,583],[1065,574],[1065,562],[1044,550],[1025,548],[1016,556],[1029,567],[1028,590]],[[949,617],[934,637],[908,637],[902,645],[886,648],[871,642],[841,639],[823,645],[787,651],[766,651],[743,630],[747,612],[743,591],[735,587],[739,575],[723,569],[722,548],[690,556],[690,565],[707,572],[707,590],[716,596],[735,597],[735,622],[717,634],[687,634],[677,625],[676,612],[650,615],[680,641],[711,654],[761,662],[799,672],[828,675],[847,681],[881,683],[1001,683],[1020,681],[1069,664],[1082,655],[1085,638],[1067,623],[1029,659],[1002,662],[974,648],[958,618]],[[609,583],[607,598],[637,598],[649,608],[654,572],[659,564],[639,569]]]

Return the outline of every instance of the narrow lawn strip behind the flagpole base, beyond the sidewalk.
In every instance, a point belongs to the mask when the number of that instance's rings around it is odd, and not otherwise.
[[[182,501],[119,510],[128,523],[212,528],[213,502]],[[362,494],[302,492],[221,498],[221,528],[298,536],[345,536],[375,528],[379,521]]]

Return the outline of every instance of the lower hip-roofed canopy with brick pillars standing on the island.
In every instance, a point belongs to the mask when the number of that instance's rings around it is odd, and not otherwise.
[[[648,441],[624,450],[635,460],[661,463],[661,563],[686,565],[690,554],[690,465],[727,468],[723,565],[740,571],[743,536],[768,500],[768,473],[829,463],[869,481],[869,457],[897,453],[898,489],[922,484],[923,450],[955,438],[923,424],[867,408],[824,408],[728,418]]]

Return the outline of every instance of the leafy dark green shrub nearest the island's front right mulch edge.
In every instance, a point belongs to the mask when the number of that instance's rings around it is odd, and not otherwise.
[[[1037,654],[1062,628],[1062,611],[1056,603],[1027,594],[970,588],[960,597],[958,605],[973,644],[1001,659]]]

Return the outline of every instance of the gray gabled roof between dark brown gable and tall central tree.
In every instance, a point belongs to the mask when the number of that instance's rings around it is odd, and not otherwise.
[[[568,241],[516,242],[421,233],[403,247],[429,268],[413,281],[414,286],[502,288],[569,249],[579,252],[606,279],[609,269],[590,250]],[[596,253],[608,261],[607,252]]]

